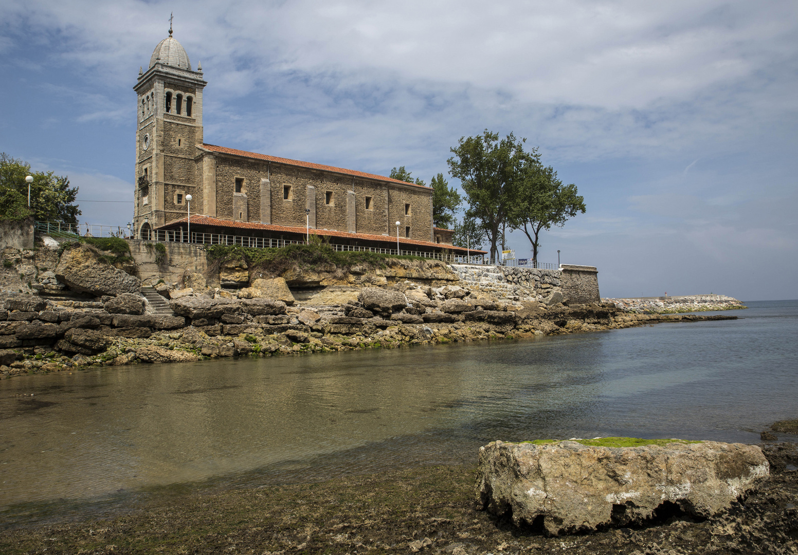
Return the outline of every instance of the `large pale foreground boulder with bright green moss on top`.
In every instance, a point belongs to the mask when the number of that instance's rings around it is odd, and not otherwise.
[[[677,505],[709,518],[769,474],[759,447],[666,443],[591,447],[574,441],[480,447],[476,503],[516,525],[577,533],[637,525]]]

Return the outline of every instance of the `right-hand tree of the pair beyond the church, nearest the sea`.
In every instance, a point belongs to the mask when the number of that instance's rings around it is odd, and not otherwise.
[[[523,169],[515,202],[508,216],[512,229],[523,230],[532,244],[532,262],[537,266],[540,232],[562,227],[578,212],[585,213],[585,199],[575,184],[563,185],[554,168],[527,166]]]

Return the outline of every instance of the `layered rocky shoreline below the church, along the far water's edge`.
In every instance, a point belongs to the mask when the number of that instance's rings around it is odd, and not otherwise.
[[[246,296],[247,293],[245,292]],[[273,294],[279,297],[279,294]],[[346,304],[286,304],[219,290],[172,300],[174,315],[146,313],[133,293],[100,301],[9,295],[0,309],[0,376],[101,366],[194,362],[514,339],[725,316],[625,313],[610,303],[511,301],[457,285],[365,287]]]

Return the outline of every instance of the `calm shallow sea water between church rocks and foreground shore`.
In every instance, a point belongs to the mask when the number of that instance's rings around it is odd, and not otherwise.
[[[3,380],[0,525],[186,484],[475,462],[495,439],[757,443],[798,418],[798,301],[747,305],[736,321]]]

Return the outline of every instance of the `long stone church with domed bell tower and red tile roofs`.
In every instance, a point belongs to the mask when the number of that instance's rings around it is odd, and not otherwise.
[[[430,187],[206,143],[205,85],[171,29],[139,70],[136,236],[274,246],[310,228],[337,245],[395,249],[398,235],[401,250],[465,254],[433,226]]]

